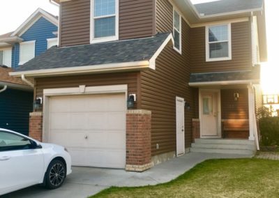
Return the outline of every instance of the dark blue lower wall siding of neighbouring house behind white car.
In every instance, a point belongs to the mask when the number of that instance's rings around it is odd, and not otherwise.
[[[7,89],[0,93],[0,128],[28,135],[32,104],[33,92]]]

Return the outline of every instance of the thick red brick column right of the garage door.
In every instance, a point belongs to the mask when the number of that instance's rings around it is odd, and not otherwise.
[[[151,112],[128,110],[126,114],[126,170],[144,172],[151,162]]]

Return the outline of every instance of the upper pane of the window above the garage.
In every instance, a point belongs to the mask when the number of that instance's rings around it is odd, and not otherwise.
[[[115,0],[95,0],[94,16],[115,14]]]

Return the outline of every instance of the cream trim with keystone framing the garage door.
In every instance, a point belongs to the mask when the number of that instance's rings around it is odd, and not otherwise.
[[[84,86],[59,89],[43,90],[43,142],[49,142],[49,115],[50,115],[50,97],[51,96],[77,96],[77,95],[93,95],[101,93],[125,93],[128,96],[128,85],[112,85],[112,86]]]

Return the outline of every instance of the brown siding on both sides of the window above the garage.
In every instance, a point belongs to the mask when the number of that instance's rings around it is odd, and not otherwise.
[[[155,34],[155,0],[119,0],[119,39]],[[90,0],[61,3],[60,46],[90,43]]]

